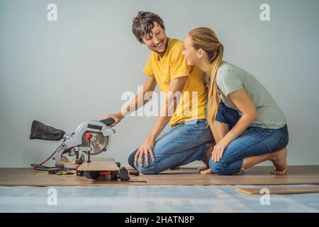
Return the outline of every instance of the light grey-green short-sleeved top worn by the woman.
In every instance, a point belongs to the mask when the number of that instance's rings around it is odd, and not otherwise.
[[[226,106],[239,111],[228,98],[228,94],[244,88],[258,111],[258,118],[251,126],[261,128],[282,128],[286,124],[286,117],[274,101],[272,95],[260,84],[252,74],[235,65],[223,61],[216,74],[216,82],[221,98]],[[240,115],[242,113],[239,111]]]

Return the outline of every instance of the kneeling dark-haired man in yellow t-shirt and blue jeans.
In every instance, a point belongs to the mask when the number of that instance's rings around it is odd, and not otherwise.
[[[133,19],[133,34],[152,50],[143,72],[147,79],[135,99],[120,113],[107,114],[115,126],[122,118],[137,110],[149,99],[156,85],[164,94],[159,116],[140,148],[129,157],[128,163],[143,174],[157,174],[169,168],[206,160],[207,146],[213,137],[206,128],[207,87],[205,73],[189,67],[182,54],[180,40],[168,38],[164,23],[155,13],[140,11]],[[171,127],[164,130],[167,123]]]

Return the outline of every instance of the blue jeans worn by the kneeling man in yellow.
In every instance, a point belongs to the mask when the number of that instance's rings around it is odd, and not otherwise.
[[[154,175],[172,167],[186,165],[206,157],[206,143],[213,140],[211,129],[206,128],[205,119],[196,119],[179,123],[160,133],[153,148],[155,161],[148,153],[149,165],[134,165],[134,157],[138,148],[128,157],[128,164],[145,175]]]

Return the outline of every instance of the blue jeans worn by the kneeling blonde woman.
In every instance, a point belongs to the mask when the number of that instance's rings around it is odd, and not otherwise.
[[[220,102],[216,121],[227,123],[231,129],[239,118],[238,111],[229,108],[222,101]],[[219,162],[210,159],[209,167],[218,175],[233,175],[240,172],[245,157],[272,153],[285,148],[288,142],[287,125],[279,129],[250,126],[225,148]]]

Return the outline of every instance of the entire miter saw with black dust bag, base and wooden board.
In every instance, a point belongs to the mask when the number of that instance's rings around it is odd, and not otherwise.
[[[46,126],[40,121],[33,121],[30,132],[30,140],[62,140],[55,152],[47,158],[50,160],[53,155],[55,167],[46,167],[43,164],[32,164],[35,170],[46,170],[51,174],[68,175],[77,173],[78,176],[85,176],[89,179],[97,179],[100,175],[110,175],[111,180],[128,181],[130,175],[138,176],[140,173],[135,170],[128,171],[121,167],[120,162],[115,162],[113,158],[107,160],[92,160],[91,155],[98,155],[106,150],[111,143],[111,135],[116,133],[108,126],[114,122],[113,118],[101,121],[85,121],[77,127],[72,134],[67,134],[51,126]],[[67,158],[74,156],[70,162]],[[85,158],[87,155],[87,160]]]

